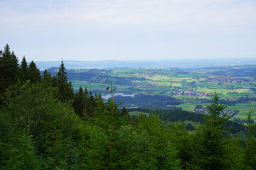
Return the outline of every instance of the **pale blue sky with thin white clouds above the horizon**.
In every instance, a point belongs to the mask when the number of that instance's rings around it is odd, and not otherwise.
[[[0,0],[21,60],[256,58],[256,0]]]

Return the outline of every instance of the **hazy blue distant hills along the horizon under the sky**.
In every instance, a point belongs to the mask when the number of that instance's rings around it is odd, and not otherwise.
[[[255,59],[224,59],[224,60],[169,60],[169,61],[77,61],[65,60],[66,69],[126,69],[126,68],[195,68],[195,67],[219,67],[242,64],[256,64]],[[36,62],[38,69],[44,70],[50,67],[59,67],[60,61]]]

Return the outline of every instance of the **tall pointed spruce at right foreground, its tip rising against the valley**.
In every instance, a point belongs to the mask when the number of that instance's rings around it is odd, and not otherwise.
[[[218,103],[218,95],[215,93],[211,98],[210,106],[208,109],[210,115],[205,115],[205,123],[202,126],[199,146],[201,147],[198,153],[198,163],[201,169],[222,169],[224,167],[224,146],[225,138],[223,136],[224,124],[227,120],[225,115],[221,115],[221,111],[225,105]]]

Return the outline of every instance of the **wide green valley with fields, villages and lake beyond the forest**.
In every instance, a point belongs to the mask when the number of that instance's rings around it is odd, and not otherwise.
[[[50,69],[55,74],[58,69]],[[107,99],[110,79],[114,99],[127,108],[182,108],[206,112],[214,92],[227,104],[230,120],[244,120],[249,104],[256,105],[256,65],[170,69],[68,69],[68,79],[76,91],[80,86]],[[138,99],[137,99],[138,98]],[[150,98],[150,101],[146,101]],[[143,102],[144,101],[144,102]],[[196,106],[203,106],[198,109]],[[202,110],[202,111],[200,111]],[[256,116],[252,116],[256,120]]]

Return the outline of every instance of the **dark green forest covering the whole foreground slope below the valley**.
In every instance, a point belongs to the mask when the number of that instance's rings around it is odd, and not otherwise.
[[[107,87],[106,87],[107,88]],[[107,89],[114,94],[112,84]],[[129,116],[113,98],[75,93],[63,61],[58,73],[0,51],[0,169],[255,169],[254,108],[233,131],[214,94],[210,115],[149,111]],[[188,128],[178,115],[202,123]],[[203,118],[202,118],[203,116]],[[228,123],[228,125],[227,125]],[[189,130],[188,130],[189,129]]]

